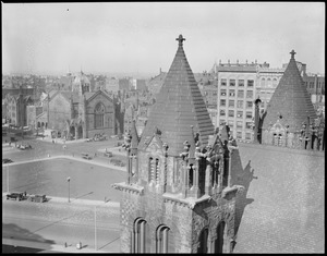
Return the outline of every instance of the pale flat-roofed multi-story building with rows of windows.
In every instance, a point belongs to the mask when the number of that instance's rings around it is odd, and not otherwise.
[[[216,126],[227,123],[231,135],[238,139],[253,139],[254,100],[258,66],[269,64],[247,62],[216,66],[218,72],[218,105]]]

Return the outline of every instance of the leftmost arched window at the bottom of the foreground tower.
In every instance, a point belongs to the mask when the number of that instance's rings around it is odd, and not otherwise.
[[[138,218],[134,222],[132,234],[132,253],[145,253],[145,224],[146,221]]]

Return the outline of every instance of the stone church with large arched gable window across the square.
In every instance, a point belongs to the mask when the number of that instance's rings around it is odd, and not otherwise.
[[[31,110],[31,120],[37,129],[55,130],[65,139],[89,138],[96,135],[114,135],[119,127],[116,120],[116,99],[99,89],[90,92],[87,76],[81,72],[72,90],[52,90],[43,102],[43,112],[37,115]]]

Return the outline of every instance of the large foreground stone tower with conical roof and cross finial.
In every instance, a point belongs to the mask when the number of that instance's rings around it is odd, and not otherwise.
[[[166,81],[138,138],[125,137],[122,253],[231,252],[235,194],[228,126],[214,131],[183,50],[182,35]]]

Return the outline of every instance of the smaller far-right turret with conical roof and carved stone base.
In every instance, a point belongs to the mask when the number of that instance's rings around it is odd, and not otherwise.
[[[255,141],[280,147],[325,148],[325,120],[317,117],[291,52],[290,62],[264,113],[256,100]],[[256,138],[256,134],[262,135]]]

